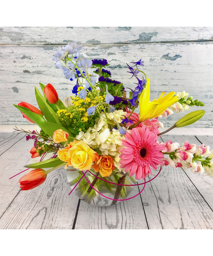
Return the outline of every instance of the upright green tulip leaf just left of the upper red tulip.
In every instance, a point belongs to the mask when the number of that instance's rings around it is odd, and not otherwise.
[[[55,111],[53,111],[52,108],[47,104],[47,102],[44,100],[44,98],[42,97],[42,95],[40,94],[36,86],[35,86],[35,95],[36,95],[38,106],[42,111],[42,114],[44,115],[45,119],[48,122],[55,122],[59,125],[62,125],[59,118],[55,114]]]

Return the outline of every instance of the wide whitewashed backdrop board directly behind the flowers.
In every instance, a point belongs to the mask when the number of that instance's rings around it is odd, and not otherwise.
[[[64,78],[61,70],[54,67],[52,56],[56,46],[2,46],[0,47],[0,115],[1,124],[25,124],[20,112],[12,105],[21,101],[37,106],[34,86],[38,83],[51,83],[61,99],[71,95],[75,82]],[[124,83],[126,88],[136,86],[131,79],[126,63],[142,57],[143,71],[151,78],[151,99],[162,91],[185,90],[194,99],[205,103],[206,114],[193,127],[211,128],[213,126],[213,43],[151,43],[120,45],[86,45],[82,58],[106,58],[112,78]],[[129,90],[129,89],[127,89]],[[195,106],[191,110],[197,110]],[[138,111],[138,110],[137,110]],[[170,127],[184,113],[174,114],[162,119],[165,127]]]

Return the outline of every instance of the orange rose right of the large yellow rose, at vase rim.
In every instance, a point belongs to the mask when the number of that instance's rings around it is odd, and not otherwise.
[[[115,169],[115,165],[111,156],[97,156],[93,169],[96,173],[100,173],[102,177],[109,177]]]

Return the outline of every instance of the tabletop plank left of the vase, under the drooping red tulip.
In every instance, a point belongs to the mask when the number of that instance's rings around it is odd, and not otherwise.
[[[0,218],[0,228],[72,229],[78,198],[70,191],[64,168],[50,173],[44,184],[20,191]]]

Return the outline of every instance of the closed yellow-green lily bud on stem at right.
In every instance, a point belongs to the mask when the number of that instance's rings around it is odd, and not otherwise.
[[[205,110],[197,110],[191,113],[186,114],[184,117],[181,117],[180,120],[175,122],[175,127],[184,127],[190,125],[194,122],[197,122],[203,115]]]

